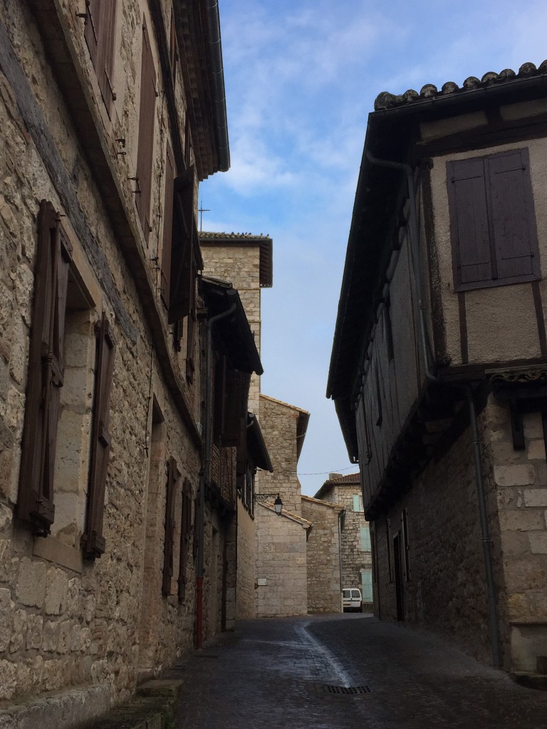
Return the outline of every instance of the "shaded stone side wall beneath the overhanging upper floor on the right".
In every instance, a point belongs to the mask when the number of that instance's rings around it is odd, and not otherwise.
[[[488,475],[487,465],[485,473]],[[490,480],[486,485],[494,559],[500,564]],[[403,510],[408,550],[404,550]],[[376,555],[375,614],[381,620],[397,619],[394,537],[399,534],[405,622],[438,631],[488,662],[486,576],[470,429],[441,461],[430,463],[397,505],[371,526]]]

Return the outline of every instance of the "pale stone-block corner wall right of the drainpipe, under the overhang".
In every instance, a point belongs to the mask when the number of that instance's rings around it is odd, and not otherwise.
[[[542,419],[540,413],[524,414],[525,445],[517,451],[508,405],[490,396],[484,418],[503,566],[498,600],[505,666],[535,672],[538,656],[547,655],[547,467]]]

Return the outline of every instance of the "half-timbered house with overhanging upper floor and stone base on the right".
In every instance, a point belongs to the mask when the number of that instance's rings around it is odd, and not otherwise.
[[[376,615],[543,673],[546,74],[376,99],[327,387]]]

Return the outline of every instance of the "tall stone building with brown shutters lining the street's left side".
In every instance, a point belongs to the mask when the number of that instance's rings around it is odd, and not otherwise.
[[[0,699],[61,692],[62,727],[235,617],[241,438],[213,416],[247,421],[261,366],[198,281],[217,6],[8,0],[0,47]]]

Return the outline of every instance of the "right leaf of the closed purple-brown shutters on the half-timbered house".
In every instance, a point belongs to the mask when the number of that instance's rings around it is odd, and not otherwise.
[[[539,276],[527,149],[486,157],[498,278]]]

